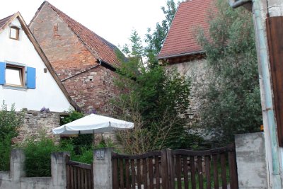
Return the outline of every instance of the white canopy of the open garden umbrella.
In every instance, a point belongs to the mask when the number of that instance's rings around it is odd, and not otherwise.
[[[132,129],[134,123],[91,114],[52,130],[54,134],[93,134]]]

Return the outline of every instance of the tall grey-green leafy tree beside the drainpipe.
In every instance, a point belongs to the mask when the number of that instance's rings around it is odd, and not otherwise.
[[[221,145],[232,142],[234,134],[258,132],[262,114],[252,15],[224,0],[216,6],[209,34],[200,30],[198,35],[208,62],[208,84],[199,95],[201,126]]]

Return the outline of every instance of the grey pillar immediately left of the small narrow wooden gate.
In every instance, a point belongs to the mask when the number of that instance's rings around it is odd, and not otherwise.
[[[51,154],[52,185],[55,188],[67,188],[67,156],[69,156],[69,152],[54,152]]]

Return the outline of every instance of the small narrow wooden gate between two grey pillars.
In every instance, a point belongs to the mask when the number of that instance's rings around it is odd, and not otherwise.
[[[67,189],[93,189],[93,165],[66,161]]]

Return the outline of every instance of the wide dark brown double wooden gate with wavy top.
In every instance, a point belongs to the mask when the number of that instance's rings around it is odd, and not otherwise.
[[[113,188],[238,188],[235,146],[112,154]]]

